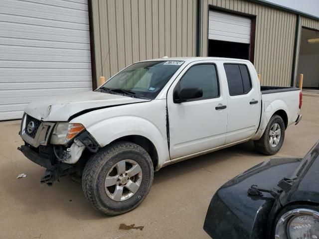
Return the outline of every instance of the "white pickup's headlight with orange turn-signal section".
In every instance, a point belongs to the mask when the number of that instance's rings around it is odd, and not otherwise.
[[[85,127],[81,123],[59,122],[55,125],[51,140],[52,144],[66,144]]]

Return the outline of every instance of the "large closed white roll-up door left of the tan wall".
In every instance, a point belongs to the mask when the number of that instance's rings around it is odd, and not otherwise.
[[[92,90],[87,0],[0,0],[0,120]]]

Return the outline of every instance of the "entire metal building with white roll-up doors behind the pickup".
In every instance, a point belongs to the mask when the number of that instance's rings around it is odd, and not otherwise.
[[[263,85],[319,88],[319,17],[263,0],[1,0],[0,120],[163,56],[249,59]]]

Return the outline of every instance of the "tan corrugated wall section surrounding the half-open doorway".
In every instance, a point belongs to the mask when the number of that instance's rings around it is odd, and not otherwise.
[[[202,55],[207,55],[208,5],[256,15],[254,65],[262,85],[290,86],[297,15],[245,0],[202,1]]]

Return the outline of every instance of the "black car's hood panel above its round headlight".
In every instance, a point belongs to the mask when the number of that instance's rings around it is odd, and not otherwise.
[[[291,189],[281,194],[279,201],[282,206],[293,202],[319,204],[319,141],[303,158],[290,178],[295,180]]]

